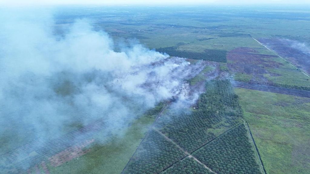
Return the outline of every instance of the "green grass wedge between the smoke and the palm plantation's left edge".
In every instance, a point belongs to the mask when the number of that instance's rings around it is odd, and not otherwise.
[[[159,103],[147,111],[135,120],[121,137],[115,137],[104,145],[99,142],[91,147],[88,153],[60,166],[47,164],[50,173],[121,173],[164,105]],[[102,139],[100,133],[94,138]]]

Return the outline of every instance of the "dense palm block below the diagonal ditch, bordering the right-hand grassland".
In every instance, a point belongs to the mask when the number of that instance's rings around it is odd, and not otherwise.
[[[244,124],[211,141],[193,156],[217,173],[261,173]]]

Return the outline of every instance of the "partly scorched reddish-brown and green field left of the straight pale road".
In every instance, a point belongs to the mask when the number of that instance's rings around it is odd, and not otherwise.
[[[252,48],[241,47],[228,52],[227,59],[236,81],[310,89],[309,78],[277,55],[259,54]]]

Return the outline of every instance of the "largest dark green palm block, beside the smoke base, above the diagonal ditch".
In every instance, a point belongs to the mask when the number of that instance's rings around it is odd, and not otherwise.
[[[197,107],[197,108],[196,108]],[[242,111],[228,80],[211,80],[190,114],[169,113],[156,126],[179,146],[193,152],[239,123]]]

